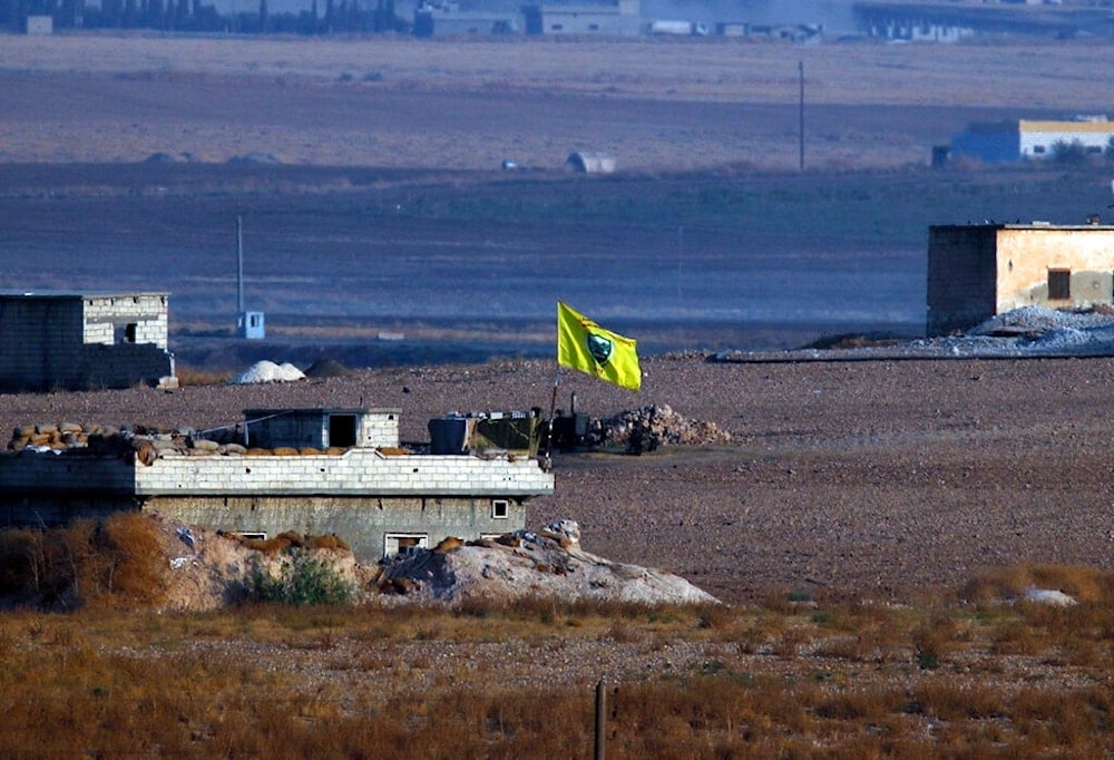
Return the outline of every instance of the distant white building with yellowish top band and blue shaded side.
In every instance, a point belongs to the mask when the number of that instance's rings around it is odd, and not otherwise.
[[[1088,154],[1102,154],[1114,138],[1114,121],[1105,116],[1076,116],[1061,121],[1016,119],[974,123],[951,140],[952,156],[987,164],[1051,158],[1056,145],[1078,144]]]

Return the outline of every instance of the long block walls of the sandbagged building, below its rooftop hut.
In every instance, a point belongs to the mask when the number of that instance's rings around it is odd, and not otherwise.
[[[332,534],[364,562],[387,534],[479,538],[526,525],[526,501],[551,494],[534,459],[391,456],[185,456],[150,466],[81,454],[0,455],[0,519],[40,525],[119,509],[157,511],[237,533]],[[496,517],[499,501],[506,517]]]

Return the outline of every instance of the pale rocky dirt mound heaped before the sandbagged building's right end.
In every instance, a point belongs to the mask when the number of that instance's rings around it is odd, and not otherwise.
[[[662,569],[614,563],[579,546],[575,520],[550,523],[538,533],[517,530],[492,540],[447,539],[383,567],[379,586],[414,600],[448,604],[524,596],[566,602],[715,604],[711,594]]]

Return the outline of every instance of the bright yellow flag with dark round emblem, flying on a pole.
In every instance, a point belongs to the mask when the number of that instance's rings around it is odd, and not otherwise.
[[[557,363],[616,386],[638,390],[637,342],[604,330],[587,316],[557,302]]]

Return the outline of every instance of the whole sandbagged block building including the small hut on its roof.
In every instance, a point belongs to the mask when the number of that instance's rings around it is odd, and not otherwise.
[[[256,538],[335,534],[375,562],[521,529],[527,500],[554,490],[551,471],[511,450],[412,454],[397,409],[251,410],[245,427],[251,448],[155,436],[0,454],[0,524],[153,511]]]

